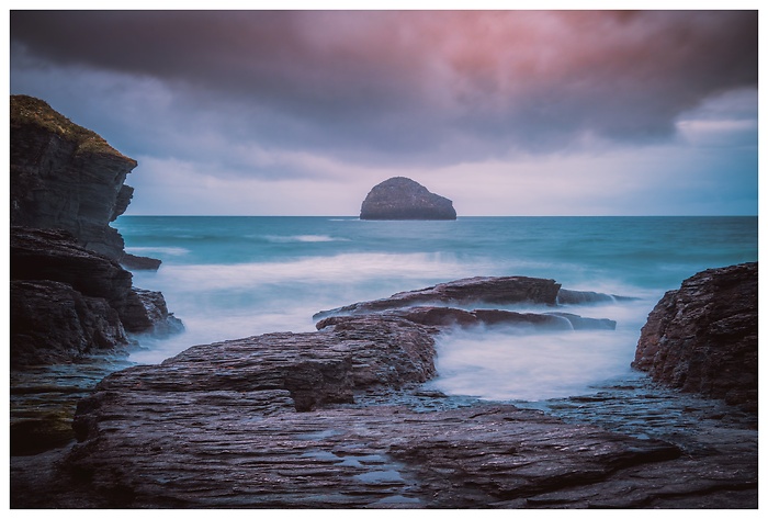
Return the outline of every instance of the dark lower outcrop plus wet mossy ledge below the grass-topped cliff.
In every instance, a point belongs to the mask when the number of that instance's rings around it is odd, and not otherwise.
[[[20,453],[74,437],[72,394],[127,365],[134,334],[182,325],[162,294],[135,289],[129,272],[64,230],[13,227],[10,259],[11,452]]]

